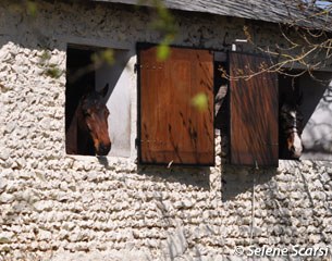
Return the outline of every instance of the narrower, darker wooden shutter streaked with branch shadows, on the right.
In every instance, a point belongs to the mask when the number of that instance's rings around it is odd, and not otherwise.
[[[231,163],[278,166],[278,75],[261,73],[249,79],[233,76],[261,72],[267,58],[230,53]]]

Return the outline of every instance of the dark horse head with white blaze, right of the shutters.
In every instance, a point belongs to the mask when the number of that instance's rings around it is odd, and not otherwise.
[[[300,96],[284,98],[280,108],[280,154],[283,159],[299,160],[303,151],[300,135],[303,114],[299,111]]]

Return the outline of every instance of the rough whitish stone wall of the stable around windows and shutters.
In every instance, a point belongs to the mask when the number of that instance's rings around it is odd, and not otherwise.
[[[232,167],[220,136],[214,167],[66,156],[65,75],[50,77],[45,67],[65,70],[67,42],[133,48],[160,35],[148,29],[145,10],[38,2],[32,17],[10,2],[0,2],[0,260],[251,260],[235,250],[332,248],[329,162]],[[242,20],[176,20],[177,45],[224,49],[244,37]],[[276,36],[271,25],[257,28],[261,45]],[[42,65],[45,48],[51,58]],[[255,260],[284,259],[304,257]]]

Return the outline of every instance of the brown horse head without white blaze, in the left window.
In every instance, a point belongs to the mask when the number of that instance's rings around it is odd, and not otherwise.
[[[109,110],[104,104],[109,85],[100,91],[91,91],[83,96],[81,100],[79,125],[88,133],[93,140],[95,154],[107,156],[111,149],[111,140],[108,130]]]

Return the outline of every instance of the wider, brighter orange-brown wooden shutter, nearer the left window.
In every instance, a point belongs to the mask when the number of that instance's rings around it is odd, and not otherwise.
[[[172,47],[159,61],[150,46],[138,61],[140,163],[214,164],[213,54]],[[198,94],[204,110],[193,105]]]

